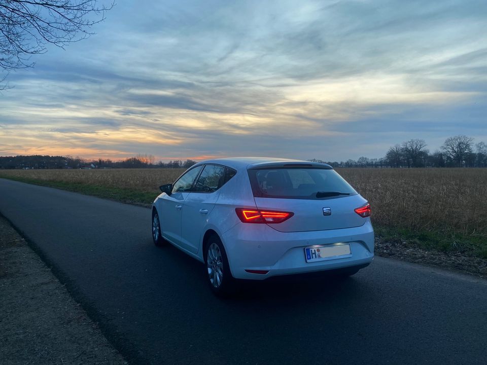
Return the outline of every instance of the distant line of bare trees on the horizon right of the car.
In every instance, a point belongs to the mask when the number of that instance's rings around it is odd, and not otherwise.
[[[487,144],[473,141],[466,135],[448,137],[439,150],[430,153],[425,140],[416,138],[393,145],[382,158],[326,163],[333,167],[487,167]]]

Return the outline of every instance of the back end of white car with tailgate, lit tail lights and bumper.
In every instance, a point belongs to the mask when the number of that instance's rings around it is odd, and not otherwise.
[[[265,279],[362,268],[374,255],[370,206],[330,166],[257,163],[245,176],[253,202],[236,206],[223,234],[232,275]]]

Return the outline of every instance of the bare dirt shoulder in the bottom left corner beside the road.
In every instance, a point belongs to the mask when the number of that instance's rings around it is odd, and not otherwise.
[[[3,217],[0,329],[3,365],[127,363]]]

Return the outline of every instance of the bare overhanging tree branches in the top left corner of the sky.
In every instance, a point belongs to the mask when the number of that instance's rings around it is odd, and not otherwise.
[[[64,47],[87,38],[113,5],[98,6],[96,0],[0,0],[0,68],[8,72],[32,67],[30,57],[45,53],[48,44]]]

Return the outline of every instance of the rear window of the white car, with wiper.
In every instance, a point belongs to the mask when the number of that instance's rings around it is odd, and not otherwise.
[[[255,197],[334,199],[358,193],[335,170],[274,168],[249,170]]]

